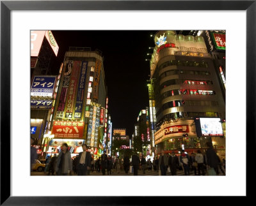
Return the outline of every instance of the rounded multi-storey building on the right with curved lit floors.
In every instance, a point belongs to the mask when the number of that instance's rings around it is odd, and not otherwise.
[[[225,101],[212,56],[202,36],[159,31],[154,41],[148,91],[157,153],[161,149],[178,151],[182,145],[189,153],[194,152],[215,138],[198,138],[195,118],[225,119]],[[225,145],[220,138],[215,142]]]

